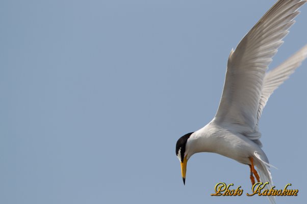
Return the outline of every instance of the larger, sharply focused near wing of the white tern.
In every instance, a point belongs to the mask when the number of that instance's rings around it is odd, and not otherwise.
[[[261,97],[266,102],[269,96],[262,95],[266,70],[304,3],[306,0],[279,0],[232,50],[216,122],[238,127],[251,139],[260,138],[258,115],[265,105]],[[264,104],[262,108],[260,104]]]

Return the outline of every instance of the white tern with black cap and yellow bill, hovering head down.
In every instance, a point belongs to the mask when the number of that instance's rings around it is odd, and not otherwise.
[[[272,187],[271,165],[261,149],[259,119],[273,91],[307,57],[307,45],[272,71],[267,69],[305,3],[277,1],[231,50],[216,115],[203,128],[177,140],[176,156],[184,184],[189,158],[195,153],[212,152],[248,165],[252,185],[255,177],[258,182],[269,182],[268,189]],[[274,197],[269,199],[275,202]]]

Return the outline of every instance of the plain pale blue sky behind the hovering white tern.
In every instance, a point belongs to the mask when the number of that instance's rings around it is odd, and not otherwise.
[[[269,203],[249,168],[203,153],[186,186],[175,143],[214,116],[230,50],[274,4],[259,1],[1,1],[0,203]],[[307,43],[307,7],[271,68]],[[261,119],[274,184],[307,191],[307,62]]]

